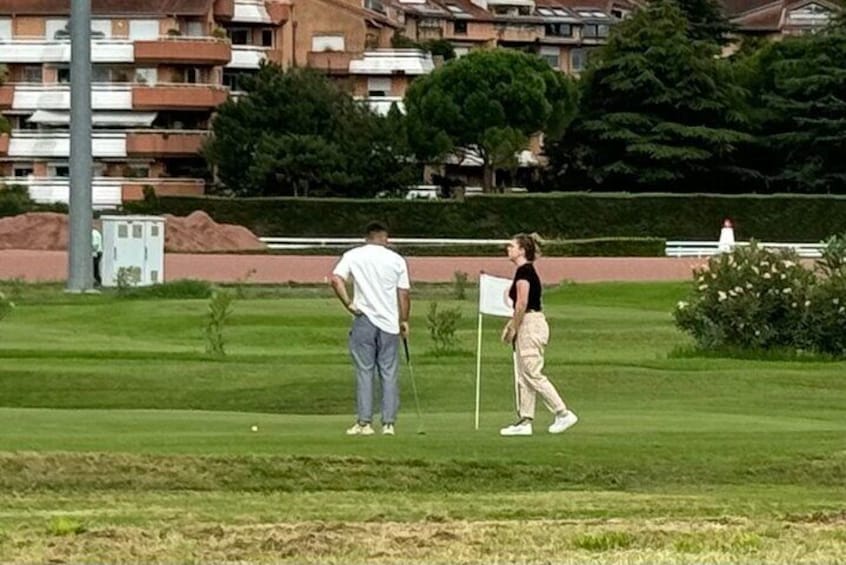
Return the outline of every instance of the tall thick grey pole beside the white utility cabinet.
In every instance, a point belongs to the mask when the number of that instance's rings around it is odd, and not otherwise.
[[[71,0],[68,292],[94,286],[91,255],[91,0]],[[50,38],[52,39],[52,38]]]

